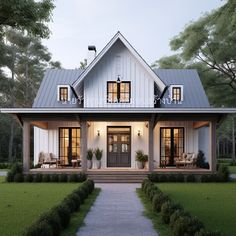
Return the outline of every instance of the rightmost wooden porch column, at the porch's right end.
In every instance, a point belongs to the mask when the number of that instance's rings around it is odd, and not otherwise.
[[[215,121],[210,122],[209,132],[210,132],[209,153],[211,157],[211,170],[212,172],[216,172],[216,122]]]

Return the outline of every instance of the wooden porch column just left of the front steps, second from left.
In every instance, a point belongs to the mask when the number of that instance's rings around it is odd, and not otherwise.
[[[80,123],[80,155],[82,171],[87,171],[87,122],[81,121]]]

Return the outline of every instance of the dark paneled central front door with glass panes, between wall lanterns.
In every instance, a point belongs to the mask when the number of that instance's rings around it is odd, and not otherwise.
[[[130,127],[107,127],[107,167],[131,167]]]

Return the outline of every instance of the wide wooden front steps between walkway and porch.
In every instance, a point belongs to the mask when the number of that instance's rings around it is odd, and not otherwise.
[[[88,171],[87,175],[95,183],[141,183],[147,177],[148,172]]]

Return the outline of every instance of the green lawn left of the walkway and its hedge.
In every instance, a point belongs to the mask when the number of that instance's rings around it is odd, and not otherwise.
[[[58,204],[78,183],[4,183],[0,177],[0,234],[21,235],[39,215]]]

